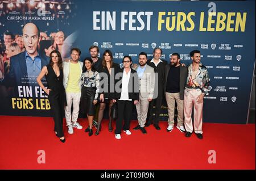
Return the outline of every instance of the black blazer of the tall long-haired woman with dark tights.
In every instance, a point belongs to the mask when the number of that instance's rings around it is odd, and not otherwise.
[[[114,71],[113,71],[114,70]],[[111,73],[111,77],[109,74],[109,70],[107,68],[103,68],[103,66],[98,67],[98,73],[100,73],[100,92],[99,94],[104,94],[104,98],[115,99],[115,74],[120,71],[120,66],[118,64],[113,63],[113,69]],[[111,89],[110,89],[111,87]]]

